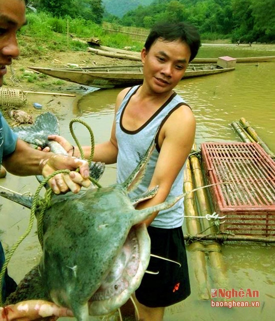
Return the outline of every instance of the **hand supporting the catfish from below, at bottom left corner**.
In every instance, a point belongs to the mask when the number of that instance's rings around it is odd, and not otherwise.
[[[28,300],[0,307],[0,321],[30,321],[47,316],[56,320],[60,316],[73,316],[73,313],[66,307],[44,300]]]

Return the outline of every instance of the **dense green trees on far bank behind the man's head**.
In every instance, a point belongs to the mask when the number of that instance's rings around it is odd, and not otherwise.
[[[153,0],[120,19],[123,25],[150,27],[157,21],[185,20],[204,38],[231,37],[232,41],[275,40],[275,0]]]

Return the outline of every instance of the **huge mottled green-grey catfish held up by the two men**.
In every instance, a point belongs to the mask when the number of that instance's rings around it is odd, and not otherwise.
[[[157,193],[156,186],[137,198],[128,196],[142,179],[153,148],[152,143],[123,183],[52,196],[43,217],[40,263],[7,303],[44,298],[69,307],[77,320],[86,321],[88,314],[107,314],[128,300],[150,257],[147,229],[139,223],[184,196],[135,209],[138,202]],[[32,203],[29,196],[0,195],[27,207]]]

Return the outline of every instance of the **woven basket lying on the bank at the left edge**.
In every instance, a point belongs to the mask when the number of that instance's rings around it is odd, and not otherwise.
[[[22,90],[0,88],[0,106],[21,107],[26,101],[26,94]]]

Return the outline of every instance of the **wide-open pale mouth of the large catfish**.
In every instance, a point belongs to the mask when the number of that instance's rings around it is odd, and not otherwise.
[[[145,224],[130,228],[111,269],[89,299],[89,314],[108,314],[124,304],[139,286],[150,258]]]

